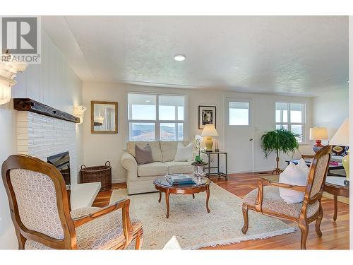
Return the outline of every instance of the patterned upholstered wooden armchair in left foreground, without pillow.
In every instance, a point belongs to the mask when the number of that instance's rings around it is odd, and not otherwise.
[[[70,212],[64,178],[53,165],[11,155],[1,172],[19,249],[124,249],[133,240],[140,249],[142,224],[130,219],[128,199]]]

